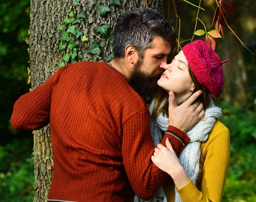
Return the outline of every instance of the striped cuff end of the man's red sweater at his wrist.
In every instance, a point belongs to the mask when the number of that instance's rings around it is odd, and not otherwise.
[[[179,156],[182,149],[189,142],[190,140],[189,137],[185,133],[183,133],[183,131],[181,131],[180,129],[172,125],[168,126],[166,134],[168,134],[168,137],[172,144],[172,148],[174,149],[176,155]],[[165,139],[164,139],[164,142],[165,142]]]

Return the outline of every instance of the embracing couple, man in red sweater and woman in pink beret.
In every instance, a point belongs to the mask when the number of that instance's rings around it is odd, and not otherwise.
[[[15,130],[50,124],[49,202],[221,201],[230,137],[213,99],[227,61],[196,40],[167,64],[175,37],[157,11],[128,11],[110,63],[66,65],[15,102]]]

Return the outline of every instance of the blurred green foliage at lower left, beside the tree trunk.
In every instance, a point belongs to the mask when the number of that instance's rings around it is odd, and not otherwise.
[[[34,200],[33,143],[15,139],[0,146],[0,201],[32,202]]]

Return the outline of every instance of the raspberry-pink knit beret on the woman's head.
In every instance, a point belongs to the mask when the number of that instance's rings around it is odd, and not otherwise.
[[[219,97],[224,85],[222,64],[228,60],[221,62],[218,54],[202,40],[187,44],[182,51],[198,82]]]

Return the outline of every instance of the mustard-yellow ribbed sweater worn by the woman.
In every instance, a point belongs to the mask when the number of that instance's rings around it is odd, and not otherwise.
[[[217,120],[200,150],[197,185],[190,180],[177,191],[183,202],[221,202],[230,163],[230,132],[226,126]],[[166,179],[163,188],[167,201],[174,202],[175,186],[171,176]],[[134,195],[130,191],[126,194],[125,201],[132,202]]]

